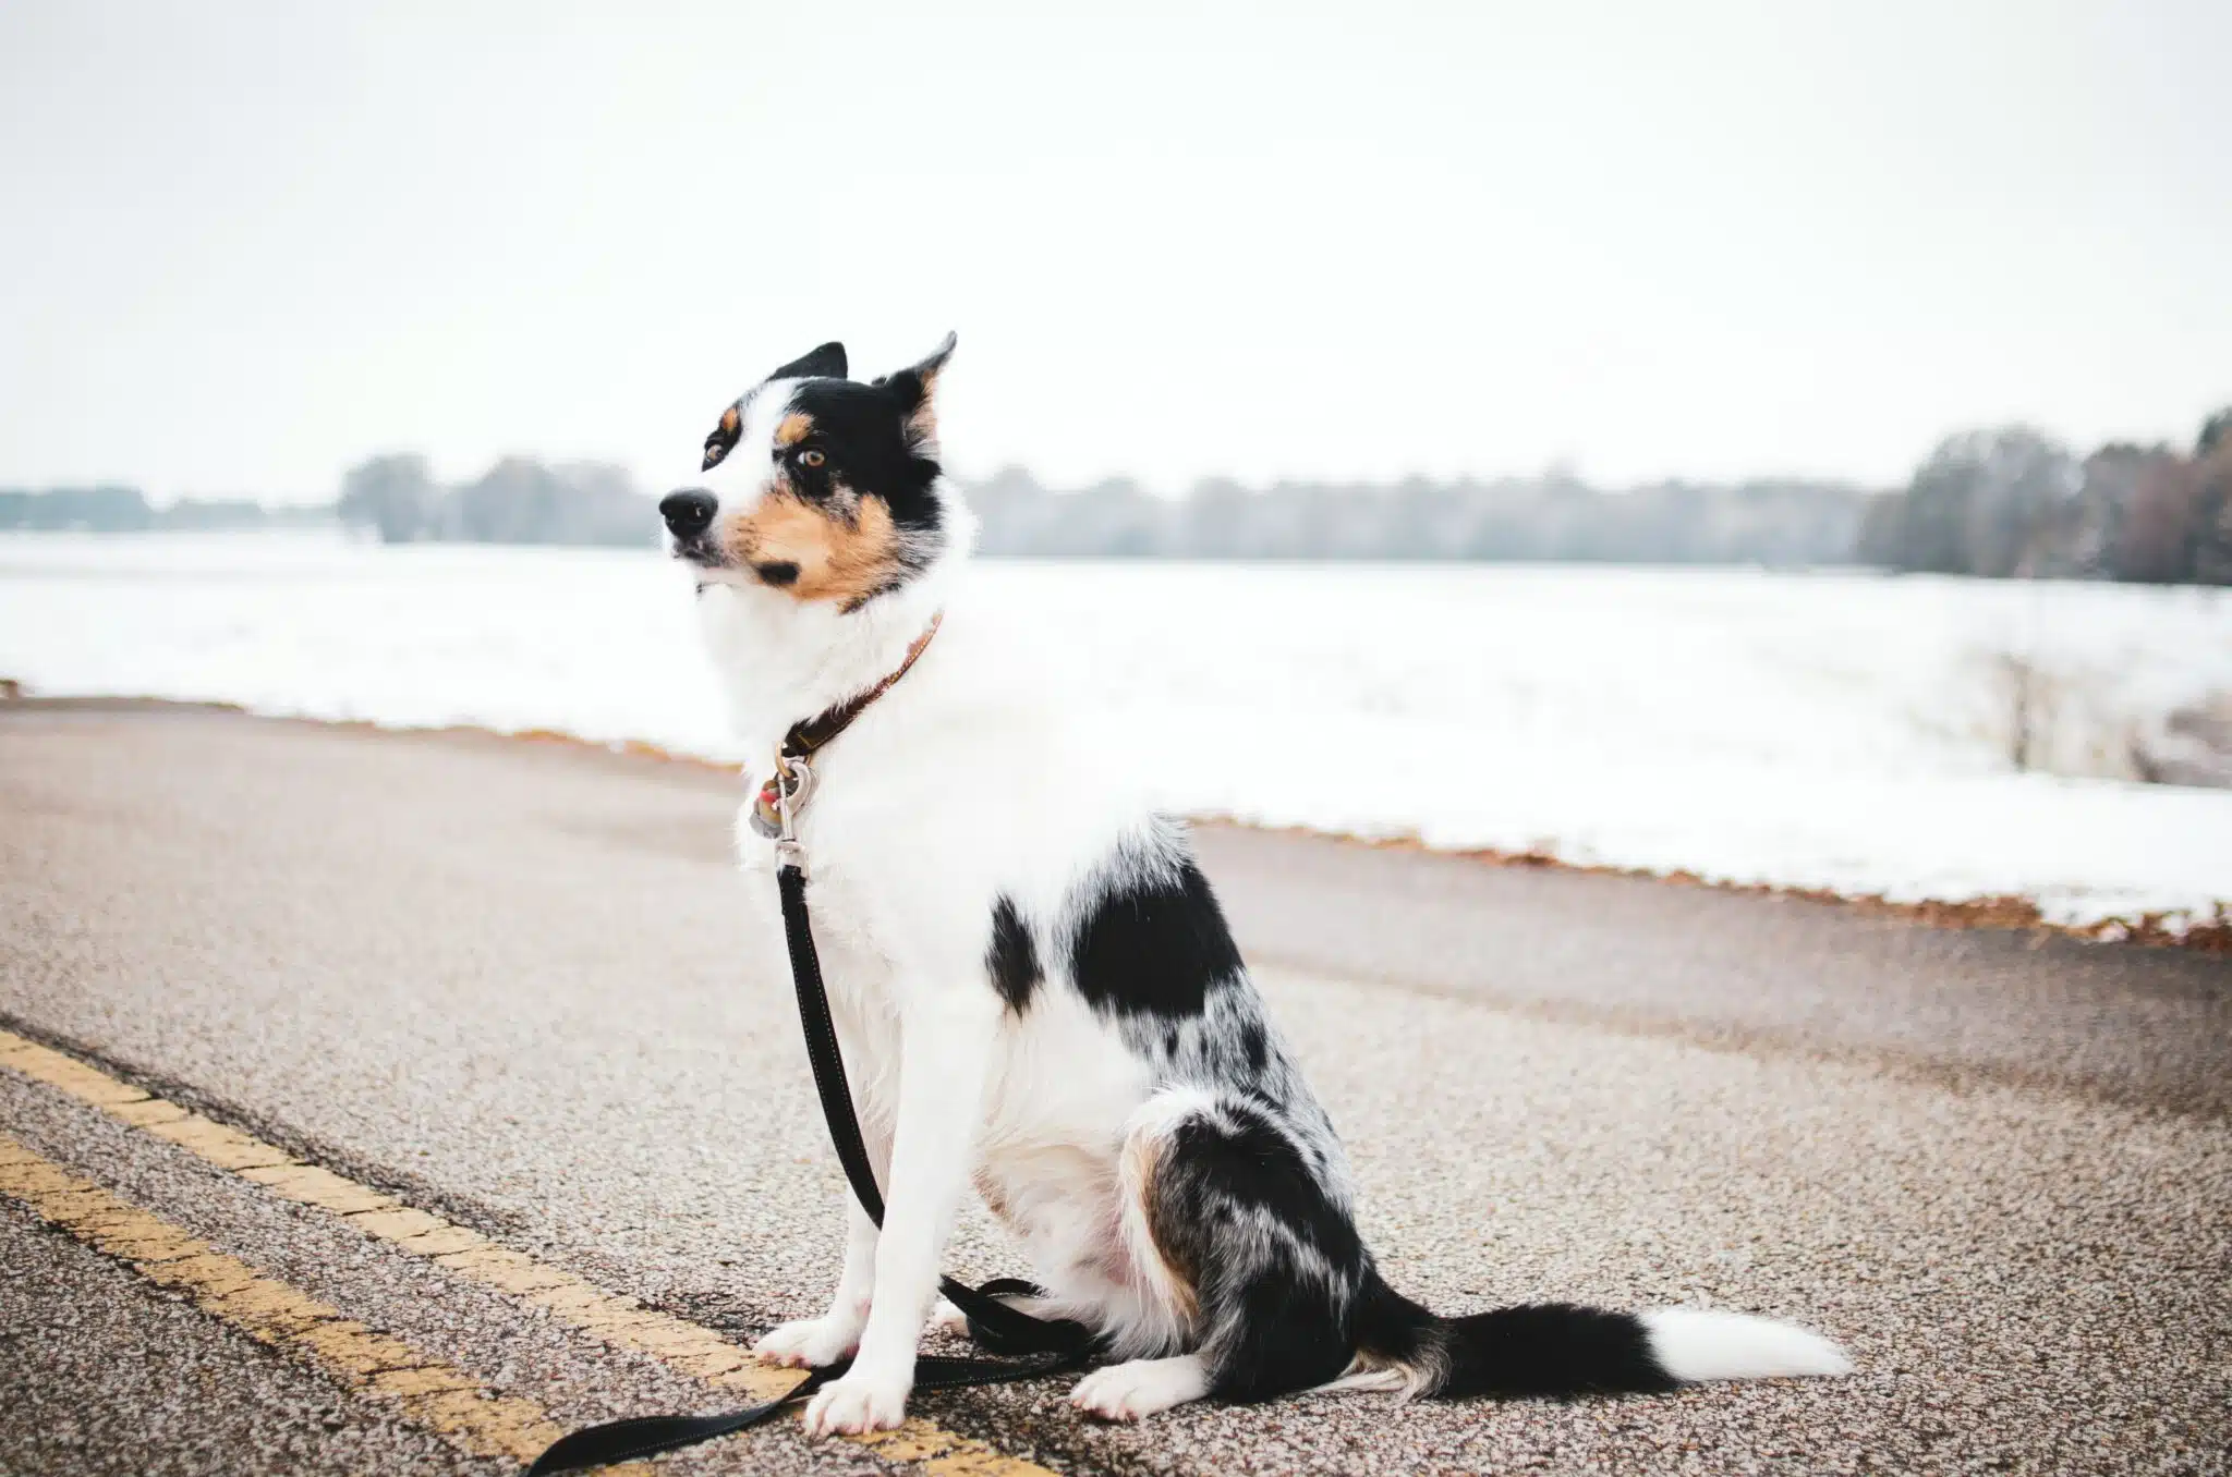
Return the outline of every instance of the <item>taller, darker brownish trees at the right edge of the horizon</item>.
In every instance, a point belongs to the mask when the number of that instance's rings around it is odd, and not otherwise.
[[[1949,435],[1861,524],[1886,569],[2232,585],[2232,408],[2194,453],[2111,442],[2082,462],[2027,426]]]

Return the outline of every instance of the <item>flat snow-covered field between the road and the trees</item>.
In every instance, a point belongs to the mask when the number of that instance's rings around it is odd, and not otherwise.
[[[2232,790],[2118,774],[2232,694],[2225,591],[1600,567],[987,562],[1199,814],[2069,924],[2232,906]],[[2007,658],[2018,658],[2011,665]],[[0,535],[0,678],[737,759],[656,553]]]

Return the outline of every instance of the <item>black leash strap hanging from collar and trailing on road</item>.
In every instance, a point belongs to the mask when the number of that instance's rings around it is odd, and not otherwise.
[[[775,884],[783,897],[783,942],[790,946],[790,982],[799,995],[799,1029],[806,1033],[806,1060],[815,1066],[821,1118],[828,1122],[830,1142],[837,1147],[837,1162],[844,1165],[844,1178],[853,1185],[853,1198],[859,1200],[868,1220],[882,1227],[884,1196],[875,1185],[875,1169],[868,1165],[868,1145],[862,1140],[859,1118],[853,1113],[853,1087],[844,1075],[844,1051],[837,1046],[837,1026],[830,1022],[830,1000],[821,984],[821,953],[815,948],[815,928],[806,913],[806,872],[795,861],[786,861],[777,870]],[[920,1357],[915,1359],[917,1390],[1038,1379],[1040,1374],[1074,1370],[1094,1357],[1096,1339],[1083,1323],[1033,1319],[1000,1301],[1002,1294],[1038,1294],[1040,1290],[1031,1283],[998,1278],[982,1287],[971,1287],[942,1276],[937,1278],[937,1290],[969,1316],[969,1334],[980,1345],[995,1354],[1009,1354],[1009,1359]],[[790,1392],[745,1406],[743,1410],[728,1410],[723,1415],[650,1415],[576,1430],[536,1457],[536,1464],[527,1468],[527,1477],[578,1473],[609,1461],[656,1457],[681,1446],[696,1446],[699,1441],[712,1441],[734,1430],[748,1430],[783,1406],[801,1401],[841,1377],[853,1361],[846,1359],[844,1363],[812,1370]]]

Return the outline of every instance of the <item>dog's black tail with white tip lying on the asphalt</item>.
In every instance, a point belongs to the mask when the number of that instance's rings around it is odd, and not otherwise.
[[[1357,1299],[1357,1359],[1337,1386],[1428,1399],[1661,1392],[1703,1379],[1850,1374],[1821,1334],[1705,1307],[1605,1312],[1527,1303],[1437,1319],[1368,1274]]]

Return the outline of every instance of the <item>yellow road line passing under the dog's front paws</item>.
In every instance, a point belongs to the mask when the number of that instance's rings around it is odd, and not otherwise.
[[[0,1066],[9,1066],[87,1102],[156,1138],[230,1169],[277,1196],[328,1209],[368,1236],[424,1256],[453,1276],[496,1287],[531,1307],[571,1323],[612,1348],[650,1354],[672,1370],[723,1390],[741,1390],[752,1401],[775,1399],[804,1374],[757,1363],[741,1345],[687,1319],[645,1307],[632,1296],[605,1292],[596,1283],[498,1245],[480,1232],[442,1216],[413,1209],[393,1196],[304,1165],[286,1149],[250,1138],[176,1102],[156,1098],[85,1062],[0,1031]],[[886,1461],[920,1464],[937,1477],[1056,1477],[1042,1466],[1009,1457],[975,1437],[964,1437],[922,1417],[897,1430],[848,1437]]]

